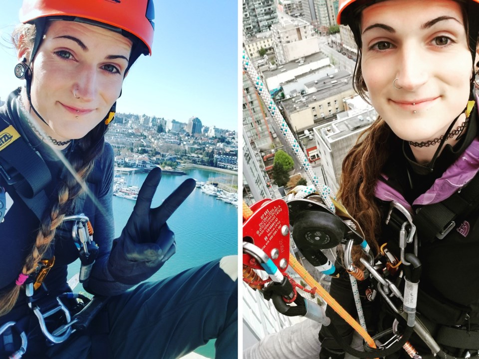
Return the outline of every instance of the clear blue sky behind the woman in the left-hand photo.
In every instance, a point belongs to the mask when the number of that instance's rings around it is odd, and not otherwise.
[[[238,130],[238,1],[155,1],[153,55],[125,79],[117,111]],[[21,1],[0,11],[0,98],[21,85],[8,35]]]

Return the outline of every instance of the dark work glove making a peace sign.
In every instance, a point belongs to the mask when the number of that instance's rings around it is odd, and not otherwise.
[[[150,208],[160,179],[160,168],[148,174],[128,222],[113,242],[109,269],[120,283],[137,284],[148,279],[175,254],[175,234],[166,221],[190,195],[196,182],[186,179],[160,206]]]

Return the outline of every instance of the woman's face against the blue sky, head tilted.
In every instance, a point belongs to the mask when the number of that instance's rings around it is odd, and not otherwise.
[[[47,134],[79,139],[103,120],[120,95],[131,46],[128,38],[102,27],[50,23],[31,84],[31,103],[49,125]]]

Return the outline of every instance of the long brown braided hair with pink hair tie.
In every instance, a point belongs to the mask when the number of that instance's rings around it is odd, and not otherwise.
[[[33,25],[20,25],[15,29],[12,36],[12,41],[16,48],[19,46],[18,39],[20,36],[22,36],[21,46],[25,46],[25,43],[33,45],[35,28]],[[104,142],[103,122],[100,122],[85,137],[76,141],[69,161],[80,179],[85,180],[91,173],[95,159],[102,152]],[[62,223],[65,215],[73,208],[75,199],[83,191],[80,183],[68,171],[65,171],[57,188],[57,195],[49,210],[45,211],[35,242],[31,247],[30,253],[25,258],[21,269],[23,274],[35,274],[38,262],[42,260],[43,255],[54,239],[56,228]],[[0,294],[0,316],[7,314],[13,308],[21,288],[22,286],[15,284],[13,288]]]

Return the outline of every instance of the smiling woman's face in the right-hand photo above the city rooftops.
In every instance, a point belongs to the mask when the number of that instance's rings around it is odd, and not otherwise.
[[[363,10],[361,38],[371,102],[393,132],[415,142],[444,135],[470,91],[472,57],[461,6],[452,0],[379,2]]]

